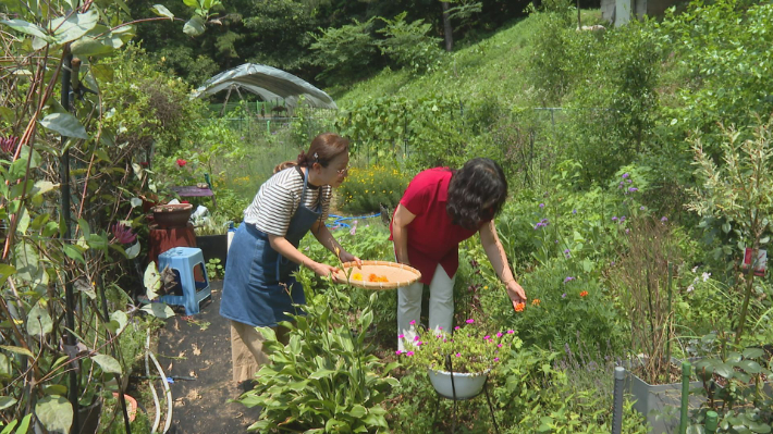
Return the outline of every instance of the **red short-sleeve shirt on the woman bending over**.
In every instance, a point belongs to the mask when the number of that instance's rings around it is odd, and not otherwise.
[[[438,264],[453,277],[459,268],[459,243],[478,231],[451,222],[445,211],[452,172],[447,168],[426,170],[408,184],[400,203],[416,215],[407,226],[408,260],[421,272],[421,283],[432,282]],[[390,233],[392,225],[390,224]],[[393,239],[390,235],[390,239]]]

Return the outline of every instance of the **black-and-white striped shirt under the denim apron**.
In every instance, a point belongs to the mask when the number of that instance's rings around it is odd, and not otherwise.
[[[260,186],[253,203],[244,210],[244,221],[258,230],[277,236],[284,236],[290,226],[290,220],[295,214],[304,191],[304,177],[297,166],[285,169],[271,176]],[[323,185],[306,187],[304,206],[311,210],[317,208],[319,195],[322,195],[321,221],[328,219],[330,198],[333,187]]]

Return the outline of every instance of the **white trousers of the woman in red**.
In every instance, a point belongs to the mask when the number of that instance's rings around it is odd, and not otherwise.
[[[429,327],[451,333],[454,319],[454,281],[449,277],[443,266],[438,264],[429,285]],[[397,349],[405,350],[404,339],[414,342],[421,318],[421,294],[424,284],[416,282],[397,288]],[[414,324],[410,322],[414,321]]]

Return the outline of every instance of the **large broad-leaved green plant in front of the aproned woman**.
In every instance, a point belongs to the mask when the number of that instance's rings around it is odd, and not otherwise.
[[[291,328],[290,344],[282,345],[271,328],[260,327],[272,364],[260,368],[255,389],[240,398],[247,407],[263,408],[249,430],[388,430],[387,410],[380,404],[398,384],[389,376],[397,363],[381,362],[366,340],[378,293],[349,323],[345,312],[333,310],[328,296],[311,294],[308,274],[298,274],[308,293],[307,315],[282,323]],[[334,286],[328,293],[346,303]]]

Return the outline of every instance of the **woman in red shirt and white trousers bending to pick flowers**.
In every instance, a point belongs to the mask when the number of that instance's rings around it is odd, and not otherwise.
[[[426,170],[410,182],[392,219],[390,239],[397,262],[421,272],[421,280],[397,290],[397,334],[410,337],[421,315],[421,293],[429,285],[429,326],[450,331],[459,243],[480,234],[486,256],[505,284],[513,308],[526,293],[513,277],[496,237],[494,216],[507,198],[507,179],[493,160],[476,158],[458,170]],[[403,339],[398,339],[400,349]]]

